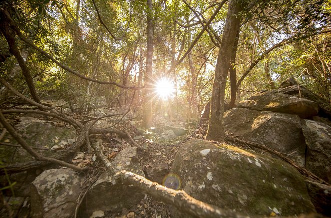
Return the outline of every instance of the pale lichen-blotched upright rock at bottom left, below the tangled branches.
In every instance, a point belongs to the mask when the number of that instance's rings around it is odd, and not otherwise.
[[[31,217],[71,218],[81,181],[72,170],[50,169],[41,173],[31,186]]]

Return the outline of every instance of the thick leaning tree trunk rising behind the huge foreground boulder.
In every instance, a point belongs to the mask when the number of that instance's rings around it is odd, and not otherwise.
[[[230,0],[227,18],[224,26],[222,42],[217,57],[213,92],[210,107],[210,119],[206,138],[219,142],[224,141],[224,95],[227,76],[229,73],[233,45],[240,28],[239,12],[241,4],[239,0]]]

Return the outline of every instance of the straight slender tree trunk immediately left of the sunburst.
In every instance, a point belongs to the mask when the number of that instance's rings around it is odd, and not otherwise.
[[[153,64],[153,3],[147,0],[147,55],[144,89],[144,116],[142,126],[152,126],[152,64]]]

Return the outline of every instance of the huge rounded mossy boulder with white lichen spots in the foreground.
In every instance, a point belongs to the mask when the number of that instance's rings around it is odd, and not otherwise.
[[[175,156],[170,177],[172,183],[165,184],[169,188],[182,189],[200,201],[248,216],[315,212],[305,181],[294,167],[225,144],[199,139],[186,142]],[[171,212],[174,218],[188,217],[175,209]]]

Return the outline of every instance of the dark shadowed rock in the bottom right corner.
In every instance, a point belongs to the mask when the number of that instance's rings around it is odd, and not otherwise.
[[[331,187],[309,180],[306,180],[306,183],[316,211],[331,217]]]

